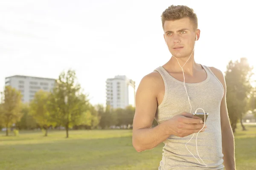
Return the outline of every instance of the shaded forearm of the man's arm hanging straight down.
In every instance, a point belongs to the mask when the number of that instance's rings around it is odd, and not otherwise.
[[[222,130],[222,152],[226,170],[236,170],[234,136],[231,127]]]

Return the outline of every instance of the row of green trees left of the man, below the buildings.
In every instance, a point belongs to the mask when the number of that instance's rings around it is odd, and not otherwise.
[[[6,86],[1,93],[0,127],[32,130],[41,128],[47,136],[48,129],[105,129],[132,125],[135,108],[113,110],[109,106],[93,106],[73,70],[64,71],[55,82],[51,92],[40,90],[29,103],[22,103],[20,91]]]

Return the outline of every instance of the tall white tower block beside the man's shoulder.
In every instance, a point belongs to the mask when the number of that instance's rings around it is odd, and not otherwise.
[[[106,105],[111,108],[135,107],[135,82],[126,76],[115,76],[106,81]]]

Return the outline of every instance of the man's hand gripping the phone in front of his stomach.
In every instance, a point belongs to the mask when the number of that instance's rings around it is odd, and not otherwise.
[[[207,127],[207,125],[204,125],[201,118],[187,112],[178,114],[172,119],[166,120],[164,123],[169,135],[179,137],[185,137],[191,135],[192,133],[198,133],[203,127],[204,129]],[[200,132],[204,132],[204,129]]]

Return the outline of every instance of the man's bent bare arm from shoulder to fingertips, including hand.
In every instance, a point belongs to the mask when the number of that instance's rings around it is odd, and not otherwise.
[[[198,132],[203,127],[200,119],[192,119],[190,113],[181,113],[151,128],[157,110],[157,91],[161,81],[163,80],[158,73],[151,73],[143,77],[137,89],[132,143],[138,152],[153,149],[172,134],[184,137]]]

